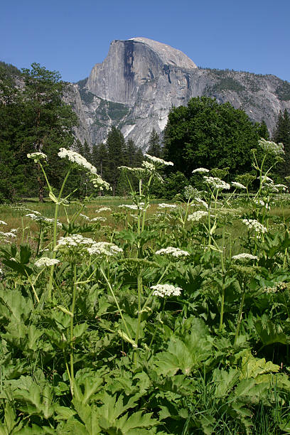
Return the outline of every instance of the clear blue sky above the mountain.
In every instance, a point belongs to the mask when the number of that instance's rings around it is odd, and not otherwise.
[[[114,39],[143,36],[203,67],[290,81],[290,0],[14,0],[0,7],[0,60],[76,82]]]

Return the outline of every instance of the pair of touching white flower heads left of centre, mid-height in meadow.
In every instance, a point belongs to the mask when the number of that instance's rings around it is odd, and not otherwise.
[[[80,234],[60,237],[55,251],[62,252],[65,256],[70,255],[108,255],[112,256],[122,252],[123,249],[109,242],[95,242],[89,237],[82,237]]]

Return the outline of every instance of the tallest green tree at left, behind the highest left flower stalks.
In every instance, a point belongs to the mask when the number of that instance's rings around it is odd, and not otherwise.
[[[38,63],[31,69],[23,69],[23,107],[24,129],[22,146],[23,162],[27,162],[27,152],[42,151],[48,155],[48,178],[55,187],[59,187],[63,178],[63,164],[57,153],[60,147],[73,145],[73,126],[77,116],[73,109],[63,102],[65,83],[60,81],[60,74],[48,71]],[[27,164],[27,163],[26,163]],[[38,198],[43,200],[44,181],[38,166]]]

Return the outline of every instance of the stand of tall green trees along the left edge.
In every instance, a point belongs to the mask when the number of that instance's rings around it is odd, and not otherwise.
[[[48,178],[59,188],[63,166],[55,165],[61,146],[72,146],[77,117],[63,102],[65,83],[57,72],[33,63],[15,77],[0,69],[0,200],[15,200],[23,195],[43,199],[44,179],[26,154],[48,154]]]

